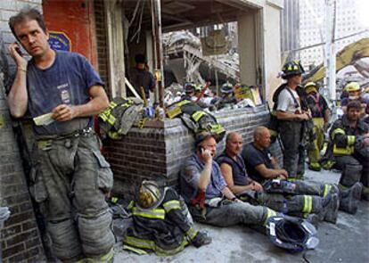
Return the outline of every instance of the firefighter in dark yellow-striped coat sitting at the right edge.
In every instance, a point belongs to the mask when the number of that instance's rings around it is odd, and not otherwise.
[[[348,103],[347,113],[337,119],[330,130],[330,144],[322,165],[339,168],[340,188],[347,189],[357,182],[364,187],[362,199],[369,200],[369,126],[360,119],[361,104]]]

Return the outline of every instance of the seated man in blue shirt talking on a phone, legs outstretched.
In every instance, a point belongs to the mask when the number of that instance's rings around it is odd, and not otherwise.
[[[236,224],[265,226],[274,210],[253,206],[236,198],[225,184],[217,162],[215,136],[201,132],[196,136],[196,150],[180,171],[180,192],[196,221],[213,226]]]

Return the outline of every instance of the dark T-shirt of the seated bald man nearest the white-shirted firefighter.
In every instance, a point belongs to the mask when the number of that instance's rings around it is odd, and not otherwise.
[[[241,155],[249,177],[258,183],[262,183],[266,179],[258,173],[255,167],[259,164],[265,164],[266,168],[274,168],[272,165],[272,153],[267,149],[259,150],[253,143],[245,145]]]

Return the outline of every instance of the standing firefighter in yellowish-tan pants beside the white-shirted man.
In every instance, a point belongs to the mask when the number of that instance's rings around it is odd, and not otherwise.
[[[314,147],[307,149],[308,168],[315,171],[320,171],[320,151],[324,144],[324,131],[328,127],[330,117],[330,110],[324,97],[319,94],[316,83],[308,82],[305,85],[305,92],[307,93],[307,105],[311,111],[314,122],[314,130],[316,139],[314,140]]]

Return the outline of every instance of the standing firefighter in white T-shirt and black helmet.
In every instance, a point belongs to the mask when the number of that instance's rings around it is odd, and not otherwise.
[[[290,179],[302,178],[304,174],[305,149],[303,140],[304,122],[310,119],[308,111],[301,107],[301,96],[297,92],[304,69],[299,62],[287,62],[283,66],[283,79],[287,82],[278,87],[274,95],[277,102],[276,117],[283,143],[283,168]],[[278,92],[280,91],[280,92]]]

